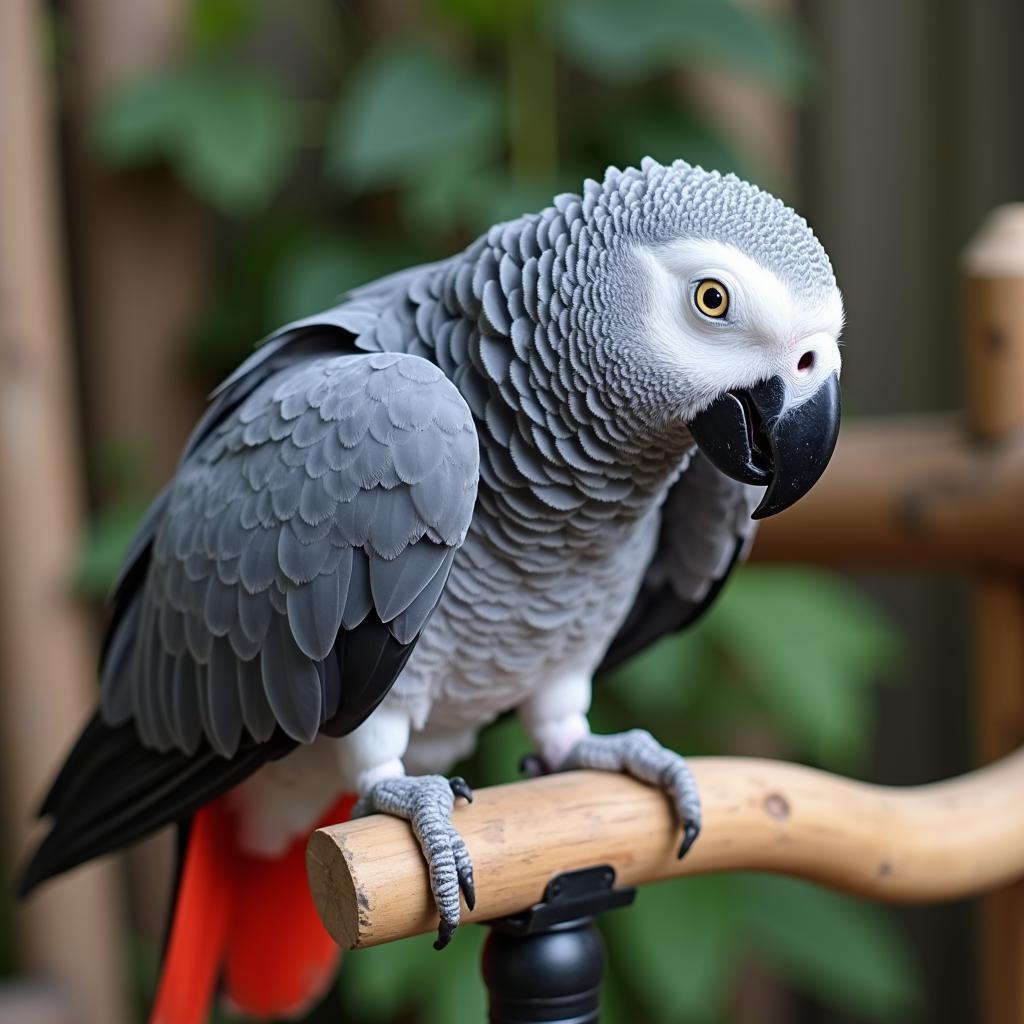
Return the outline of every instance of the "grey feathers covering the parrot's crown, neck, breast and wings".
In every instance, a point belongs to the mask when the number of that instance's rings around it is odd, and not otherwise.
[[[678,377],[631,348],[636,247],[680,234],[731,243],[804,295],[835,284],[778,201],[645,161],[271,336],[136,540],[106,717],[158,749],[206,737],[230,755],[275,726],[308,741],[338,709],[369,714],[438,602],[413,689],[456,647],[476,686],[603,650],[645,602],[667,629],[700,606],[751,496],[687,468]]]

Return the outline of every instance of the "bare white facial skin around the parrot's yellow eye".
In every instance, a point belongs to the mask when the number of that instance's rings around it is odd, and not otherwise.
[[[646,340],[686,381],[687,408],[679,411],[684,421],[725,391],[775,376],[793,408],[840,372],[838,288],[808,304],[770,270],[720,242],[679,241],[638,255],[650,285]],[[728,308],[718,318],[694,302],[697,285],[708,279],[728,293]]]

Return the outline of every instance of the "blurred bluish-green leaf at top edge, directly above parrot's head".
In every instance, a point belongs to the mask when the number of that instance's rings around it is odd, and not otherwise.
[[[555,28],[564,50],[600,78],[710,63],[797,92],[810,70],[794,20],[730,0],[564,0]]]

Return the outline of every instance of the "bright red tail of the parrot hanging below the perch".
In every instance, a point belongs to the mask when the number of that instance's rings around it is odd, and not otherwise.
[[[316,827],[348,819],[342,797]],[[206,1024],[218,981],[226,1002],[255,1018],[296,1016],[334,977],[339,950],[306,883],[305,842],[279,858],[239,848],[223,799],[193,818],[150,1024]]]

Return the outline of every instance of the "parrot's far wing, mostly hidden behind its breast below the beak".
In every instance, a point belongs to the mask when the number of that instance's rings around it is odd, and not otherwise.
[[[725,476],[694,452],[665,500],[654,554],[598,672],[685,629],[711,607],[754,540],[751,513],[763,492]]]

